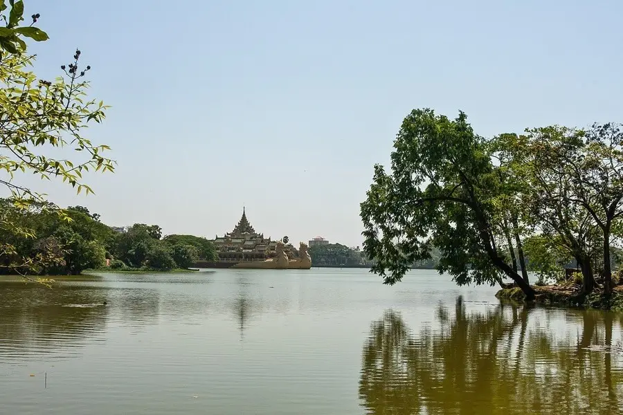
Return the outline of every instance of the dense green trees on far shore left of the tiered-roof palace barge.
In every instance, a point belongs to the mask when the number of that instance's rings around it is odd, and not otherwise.
[[[205,238],[163,237],[158,225],[141,223],[118,230],[81,206],[60,214],[48,203],[30,203],[24,209],[0,199],[0,211],[4,219],[29,230],[24,234],[0,228],[0,239],[14,247],[0,252],[0,274],[78,275],[104,267],[107,260],[110,270],[170,271],[217,257]]]

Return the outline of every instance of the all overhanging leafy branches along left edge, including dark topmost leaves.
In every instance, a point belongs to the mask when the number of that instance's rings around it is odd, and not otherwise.
[[[84,172],[114,170],[114,162],[102,156],[109,147],[94,145],[82,136],[87,124],[104,119],[107,109],[103,102],[86,99],[89,85],[83,77],[91,67],[80,64],[81,53],[76,50],[71,64],[61,66],[64,77],[51,82],[30,72],[34,56],[26,53],[24,38],[40,42],[48,35],[33,26],[38,14],[32,15],[30,26],[19,26],[24,21],[24,2],[9,3],[10,10],[6,1],[0,0],[0,18],[6,22],[5,27],[0,27],[0,171],[5,172],[0,176],[0,185],[10,191],[12,203],[21,208],[43,201],[44,195],[19,184],[19,173],[35,174],[45,180],[58,178],[78,193],[84,190],[89,194],[93,191],[82,182]],[[78,154],[71,160],[53,158],[46,155],[51,147],[57,154],[64,149]],[[31,230],[21,228],[7,216],[0,219],[4,230],[34,237]],[[67,216],[66,219],[69,220]],[[0,242],[0,255],[15,256],[15,252],[14,246]],[[18,260],[10,267],[17,269],[25,264],[33,264],[33,259]]]

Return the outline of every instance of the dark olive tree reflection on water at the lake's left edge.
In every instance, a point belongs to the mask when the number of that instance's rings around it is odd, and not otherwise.
[[[28,360],[42,353],[83,346],[105,329],[108,291],[66,284],[62,291],[40,284],[6,282],[0,291],[0,359]],[[69,350],[68,350],[69,348]]]

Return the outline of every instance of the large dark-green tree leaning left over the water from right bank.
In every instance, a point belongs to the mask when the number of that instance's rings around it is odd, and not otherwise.
[[[415,261],[441,252],[437,270],[458,284],[512,279],[534,298],[534,289],[507,264],[494,220],[502,190],[487,142],[467,116],[450,120],[415,109],[402,123],[391,154],[391,172],[374,167],[361,203],[363,248],[372,271],[386,284],[400,281]]]

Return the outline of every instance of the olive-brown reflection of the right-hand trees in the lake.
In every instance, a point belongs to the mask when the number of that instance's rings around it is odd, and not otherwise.
[[[361,405],[370,414],[620,414],[620,316],[495,306],[437,308],[412,333],[399,313],[363,346]]]

